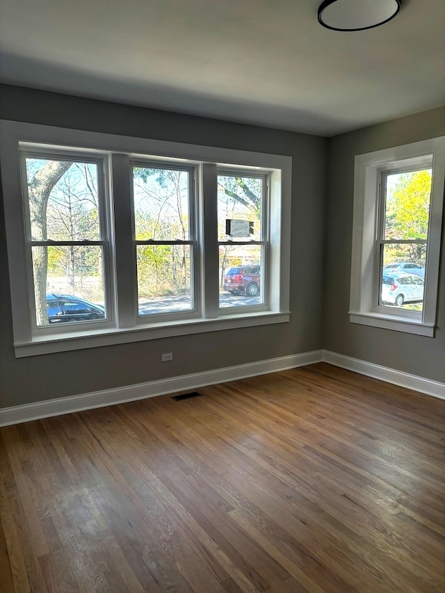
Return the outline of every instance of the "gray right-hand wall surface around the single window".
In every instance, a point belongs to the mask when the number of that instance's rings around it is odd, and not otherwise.
[[[434,338],[349,323],[354,156],[445,135],[445,108],[334,136],[328,144],[323,346],[445,382],[445,245]],[[445,232],[443,232],[445,234]]]

